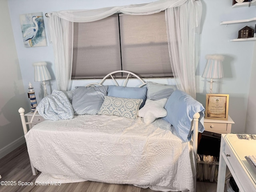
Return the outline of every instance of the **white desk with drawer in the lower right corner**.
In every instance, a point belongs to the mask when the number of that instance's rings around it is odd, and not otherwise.
[[[238,139],[236,134],[222,134],[217,192],[224,191],[226,166],[228,166],[240,192],[256,191],[256,172],[244,158],[256,155],[256,140]]]

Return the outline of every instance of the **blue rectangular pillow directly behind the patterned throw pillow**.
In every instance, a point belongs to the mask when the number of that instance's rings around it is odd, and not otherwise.
[[[142,99],[142,108],[146,102],[147,98],[147,88],[146,87],[124,87],[124,86],[108,86],[108,96],[111,97],[121,97],[130,99]]]

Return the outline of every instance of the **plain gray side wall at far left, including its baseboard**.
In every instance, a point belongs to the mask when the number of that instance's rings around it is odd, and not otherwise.
[[[24,143],[18,107],[26,102],[7,0],[0,0],[0,158]]]

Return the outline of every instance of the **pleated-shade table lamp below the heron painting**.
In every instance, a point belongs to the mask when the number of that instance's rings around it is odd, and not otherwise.
[[[36,62],[33,64],[34,73],[35,73],[35,81],[42,81],[44,86],[44,96],[48,96],[48,92],[46,90],[46,84],[44,81],[50,80],[52,77],[46,67],[46,62]]]

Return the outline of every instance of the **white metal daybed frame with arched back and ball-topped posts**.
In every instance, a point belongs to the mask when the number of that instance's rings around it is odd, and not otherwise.
[[[113,77],[113,74],[115,74],[115,73],[120,73],[120,72],[121,72],[121,73],[127,73],[127,76],[126,76],[125,81],[124,81],[124,83],[122,84],[122,86],[126,86],[126,85],[127,85],[127,82],[128,82],[128,80],[129,80],[129,78],[130,78],[130,75],[136,77],[136,78],[140,81],[141,84],[140,84],[138,87],[143,87],[143,86],[146,85],[146,82],[145,82],[144,80],[142,80],[142,79],[141,79],[139,76],[137,76],[136,74],[134,74],[134,73],[132,73],[132,72],[129,72],[129,71],[119,70],[119,71],[114,71],[114,72],[111,72],[111,73],[107,74],[107,75],[100,81],[100,83],[91,83],[91,84],[88,84],[88,85],[86,85],[86,86],[102,86],[103,83],[104,83],[104,81],[105,81],[107,78],[109,78],[109,76],[112,78],[112,80],[113,80],[113,82],[114,82],[114,84],[115,84],[116,86],[120,86],[120,85],[118,84],[118,82],[116,81],[116,79]],[[35,112],[34,112],[32,118],[31,118],[30,122],[26,122],[25,114],[24,114],[24,112],[25,112],[24,108],[20,108],[20,109],[18,110],[18,112],[20,113],[20,118],[21,118],[21,122],[22,122],[22,128],[23,128],[23,131],[24,131],[24,135],[26,135],[27,132],[28,132],[28,127],[27,127],[27,125],[29,125],[29,124],[34,124],[34,125],[37,124],[37,122],[33,122],[34,117],[35,117],[36,112],[37,112],[37,109],[35,110]],[[194,158],[195,158],[195,160],[194,160],[194,162],[195,162],[194,167],[195,167],[195,168],[196,168],[196,166],[197,166],[196,157],[197,157],[197,148],[198,148],[198,121],[199,121],[199,118],[200,118],[200,114],[199,114],[199,113],[194,114],[194,116],[193,116],[193,124],[192,124],[192,129],[193,129],[192,141],[193,141],[193,149],[194,149]],[[195,134],[195,133],[196,133],[196,134]],[[37,170],[36,170],[36,168],[34,168],[34,166],[32,165],[31,160],[30,160],[30,165],[31,165],[31,169],[32,169],[32,174],[33,174],[33,175],[36,175],[36,174],[37,174]],[[195,176],[194,176],[194,191],[196,191],[196,174],[195,174]]]

